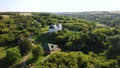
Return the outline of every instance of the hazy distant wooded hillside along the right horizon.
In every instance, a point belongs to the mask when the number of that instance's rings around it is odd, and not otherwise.
[[[120,26],[120,11],[64,12],[55,14],[91,20],[112,27]]]

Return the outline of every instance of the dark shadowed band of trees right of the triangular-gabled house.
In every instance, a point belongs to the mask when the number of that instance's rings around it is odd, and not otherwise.
[[[120,41],[119,39],[115,42],[111,41],[113,41],[112,38],[114,36],[119,37],[119,34],[119,29],[110,28],[96,28],[86,32],[63,30],[39,35],[37,36],[37,41],[58,44],[65,51],[82,50],[99,53],[114,46],[114,43],[118,45]]]

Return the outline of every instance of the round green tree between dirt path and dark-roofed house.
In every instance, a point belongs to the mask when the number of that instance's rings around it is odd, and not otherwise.
[[[43,51],[42,47],[39,45],[39,46],[36,46],[32,50],[32,54],[33,54],[34,58],[38,58],[39,56],[44,54],[44,51]]]

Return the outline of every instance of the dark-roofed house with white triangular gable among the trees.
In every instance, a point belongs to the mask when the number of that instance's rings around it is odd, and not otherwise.
[[[53,53],[55,51],[61,51],[58,45],[55,44],[45,43],[42,45],[42,47],[45,53]]]

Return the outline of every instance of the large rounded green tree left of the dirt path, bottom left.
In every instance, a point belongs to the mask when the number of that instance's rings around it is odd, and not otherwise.
[[[21,57],[20,51],[17,48],[10,48],[7,50],[6,54],[6,64],[11,65],[13,64],[16,60],[18,60]]]

